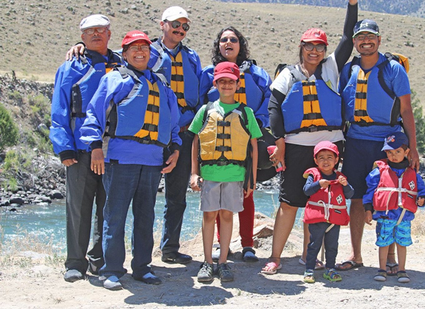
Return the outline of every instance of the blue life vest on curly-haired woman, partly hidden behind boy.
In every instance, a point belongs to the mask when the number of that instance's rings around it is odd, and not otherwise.
[[[252,61],[244,61],[239,67],[241,87],[235,93],[235,101],[247,105],[255,113],[263,103],[264,94],[252,77],[250,70],[252,64]],[[207,96],[209,102],[214,102],[220,98],[220,94],[214,86],[210,88]]]

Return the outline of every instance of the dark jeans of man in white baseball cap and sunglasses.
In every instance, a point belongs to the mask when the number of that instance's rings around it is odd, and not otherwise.
[[[178,133],[182,144],[176,167],[165,174],[165,208],[162,228],[161,251],[178,251],[183,214],[186,209],[186,191],[192,167],[193,133]],[[167,158],[167,156],[164,156]]]

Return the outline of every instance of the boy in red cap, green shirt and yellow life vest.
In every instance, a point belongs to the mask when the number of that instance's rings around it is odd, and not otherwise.
[[[255,189],[257,138],[262,133],[252,109],[235,101],[235,92],[241,85],[238,65],[232,62],[216,65],[212,83],[220,99],[203,105],[189,127],[189,131],[197,134],[193,139],[190,186],[201,191],[201,210],[204,212],[205,260],[198,272],[198,281],[211,281],[214,273],[212,242],[217,214],[221,221],[217,273],[221,281],[233,281],[227,265],[233,213],[243,210],[244,195],[249,196]],[[251,151],[252,160],[249,158]]]

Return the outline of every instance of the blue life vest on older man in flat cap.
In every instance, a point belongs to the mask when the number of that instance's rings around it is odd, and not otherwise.
[[[96,92],[100,79],[110,72],[115,65],[120,65],[122,59],[119,54],[108,51],[108,62],[105,62],[105,58],[101,54],[95,51],[86,51],[85,56],[81,57],[81,62],[83,64],[89,63],[90,68],[78,82],[72,85],[72,118],[85,118],[87,105]]]

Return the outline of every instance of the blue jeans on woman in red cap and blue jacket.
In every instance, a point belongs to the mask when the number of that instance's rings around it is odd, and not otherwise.
[[[133,199],[133,259],[134,277],[150,272],[153,249],[154,206],[162,166],[105,163],[103,184],[106,203],[103,210],[103,255],[105,265],[99,276],[122,277],[125,261],[125,219]]]

